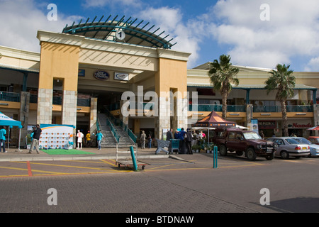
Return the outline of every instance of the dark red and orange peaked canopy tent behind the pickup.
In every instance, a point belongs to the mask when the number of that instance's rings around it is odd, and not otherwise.
[[[236,123],[233,121],[226,121],[221,118],[215,111],[208,114],[205,118],[192,124],[191,127],[202,127],[202,128],[230,128],[236,127]]]

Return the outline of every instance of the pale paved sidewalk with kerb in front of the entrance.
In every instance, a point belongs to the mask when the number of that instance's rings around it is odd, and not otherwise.
[[[157,148],[138,148],[138,158],[150,159],[169,157],[169,155],[166,155],[163,152],[155,155],[156,149]],[[116,159],[116,148],[102,148],[101,150],[98,150],[97,148],[82,148],[82,151],[89,152],[85,155],[48,155],[41,150],[39,154],[36,153],[35,150],[33,150],[32,154],[28,154],[27,149],[18,150],[18,148],[9,148],[9,150],[6,149],[6,151],[7,153],[0,153],[0,162]],[[118,148],[118,151],[129,151],[129,148]],[[130,153],[119,153],[118,157],[130,158],[131,156]]]

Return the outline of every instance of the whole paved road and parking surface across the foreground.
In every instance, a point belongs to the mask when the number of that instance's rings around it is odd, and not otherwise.
[[[218,157],[216,169],[211,154],[141,161],[148,165],[138,172],[113,160],[2,162],[0,212],[319,212],[319,158]],[[264,188],[270,205],[262,206]]]

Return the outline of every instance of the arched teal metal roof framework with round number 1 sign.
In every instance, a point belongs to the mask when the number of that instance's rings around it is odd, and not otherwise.
[[[166,40],[169,35],[166,35],[164,38],[160,36],[165,31],[162,31],[162,33],[159,33],[158,35],[155,34],[157,31],[159,31],[160,28],[157,28],[155,29],[155,31],[151,32],[152,28],[154,28],[155,25],[147,28],[147,26],[150,24],[149,22],[142,26],[142,23],[144,22],[142,20],[135,26],[138,18],[135,18],[133,20],[133,18],[130,17],[125,20],[125,16],[123,16],[121,19],[117,20],[118,15],[116,15],[114,18],[111,18],[110,15],[108,16],[108,18],[106,18],[105,21],[102,21],[103,17],[104,16],[101,16],[99,21],[96,21],[97,16],[95,16],[91,22],[89,22],[90,18],[87,18],[85,23],[82,23],[82,19],[81,21],[79,21],[78,24],[75,24],[75,22],[73,22],[72,26],[65,26],[62,33],[83,35],[86,38],[108,40],[118,43],[124,42],[134,45],[142,45],[150,48],[170,49],[172,48],[172,46],[177,44],[170,43],[173,38],[170,40]],[[116,38],[116,31],[123,31],[125,33],[125,39],[118,40]]]

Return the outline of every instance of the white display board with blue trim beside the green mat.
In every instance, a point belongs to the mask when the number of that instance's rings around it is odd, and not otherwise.
[[[73,145],[73,126],[41,124],[40,149],[69,149]]]

